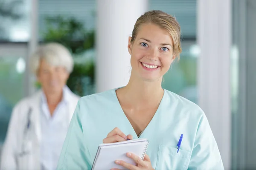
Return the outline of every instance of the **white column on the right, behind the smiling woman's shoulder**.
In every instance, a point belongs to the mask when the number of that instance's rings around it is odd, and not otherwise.
[[[231,0],[198,0],[199,105],[206,113],[225,169],[230,169]]]

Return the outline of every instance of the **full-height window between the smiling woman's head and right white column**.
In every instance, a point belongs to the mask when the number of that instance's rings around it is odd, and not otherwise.
[[[171,14],[181,27],[180,60],[176,59],[164,75],[163,88],[197,103],[197,59],[200,50],[196,44],[196,0],[149,0],[149,9]]]

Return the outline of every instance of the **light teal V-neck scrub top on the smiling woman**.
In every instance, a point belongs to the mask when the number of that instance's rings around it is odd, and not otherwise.
[[[82,97],[73,114],[58,170],[90,170],[102,140],[118,127],[138,136],[116,96],[116,89]],[[183,134],[180,150],[177,143]],[[207,117],[198,105],[164,90],[151,122],[140,138],[149,141],[147,154],[156,170],[224,170]]]

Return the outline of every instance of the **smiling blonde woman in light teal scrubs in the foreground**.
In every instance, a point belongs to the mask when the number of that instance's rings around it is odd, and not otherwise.
[[[138,138],[149,141],[145,159],[127,153],[137,166],[122,160],[116,164],[129,170],[223,170],[204,112],[162,88],[163,75],[181,52],[179,23],[162,11],[146,12],[135,23],[128,51],[132,67],[128,84],[79,100],[58,170],[91,169],[102,140]]]

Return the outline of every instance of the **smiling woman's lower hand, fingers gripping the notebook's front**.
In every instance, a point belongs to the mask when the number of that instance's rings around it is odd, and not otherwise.
[[[126,156],[133,159],[137,166],[134,166],[132,164],[128,164],[125,161],[116,160],[115,163],[122,165],[123,167],[127,168],[128,170],[154,170],[154,168],[151,165],[151,161],[149,156],[146,154],[144,160],[140,159],[139,156],[134,155],[133,153],[127,153]],[[119,169],[111,169],[111,170],[119,170]]]

